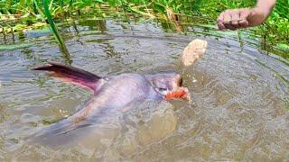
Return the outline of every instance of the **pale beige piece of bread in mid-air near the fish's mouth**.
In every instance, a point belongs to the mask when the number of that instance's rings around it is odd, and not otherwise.
[[[192,40],[182,51],[182,63],[184,66],[191,66],[195,63],[207,49],[206,40]]]

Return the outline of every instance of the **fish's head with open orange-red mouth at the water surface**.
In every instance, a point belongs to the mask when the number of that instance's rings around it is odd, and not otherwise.
[[[182,76],[174,71],[166,71],[146,78],[154,86],[157,93],[162,94],[165,100],[185,99],[190,100],[188,88],[182,86]]]

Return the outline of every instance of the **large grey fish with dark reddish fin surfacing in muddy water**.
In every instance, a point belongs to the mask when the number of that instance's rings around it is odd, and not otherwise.
[[[51,124],[33,137],[33,141],[51,146],[69,143],[78,136],[73,131],[97,124],[106,115],[129,111],[135,103],[190,99],[188,89],[182,86],[182,76],[173,71],[147,76],[121,74],[101,77],[57,62],[33,69],[50,71],[51,76],[84,86],[93,92],[78,112]]]

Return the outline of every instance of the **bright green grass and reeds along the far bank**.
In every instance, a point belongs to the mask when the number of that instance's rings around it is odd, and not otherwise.
[[[214,25],[222,11],[255,4],[256,0],[0,0],[0,32],[37,29],[47,22],[51,24],[51,30],[62,47],[65,43],[53,20],[58,22],[79,16],[105,15],[110,10],[164,21],[200,19],[201,23]],[[253,35],[260,35],[267,43],[287,50],[288,10],[288,0],[277,0],[266,23],[251,28]]]

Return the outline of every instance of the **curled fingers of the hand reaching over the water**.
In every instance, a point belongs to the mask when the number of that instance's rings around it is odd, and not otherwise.
[[[226,10],[219,15],[217,24],[219,30],[237,30],[248,27],[247,18],[250,15],[248,9]]]

